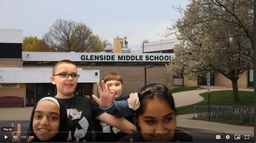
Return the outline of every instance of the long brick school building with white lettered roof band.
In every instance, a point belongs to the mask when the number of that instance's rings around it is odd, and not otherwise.
[[[53,64],[61,60],[77,65],[77,96],[97,95],[96,83],[110,72],[123,77],[123,93],[127,95],[150,83],[162,83],[169,88],[197,85],[197,81],[167,73],[165,64],[173,56],[177,39],[143,42],[141,53],[127,52],[126,37],[115,38],[113,49],[106,47],[106,52],[101,53],[22,52],[22,40],[22,30],[0,29],[0,107],[34,106],[42,97],[57,94],[50,77]],[[250,87],[252,76],[251,70],[244,73],[238,87]],[[215,74],[212,81],[215,86],[231,87],[231,82],[221,74]]]

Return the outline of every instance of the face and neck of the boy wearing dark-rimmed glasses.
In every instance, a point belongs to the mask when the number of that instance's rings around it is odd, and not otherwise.
[[[70,63],[60,63],[54,68],[55,73],[77,73],[77,68],[74,64]],[[71,76],[66,78],[61,78],[60,75],[54,75],[51,77],[53,85],[57,86],[57,98],[70,98],[74,96],[74,91],[77,85],[77,79],[72,79]]]

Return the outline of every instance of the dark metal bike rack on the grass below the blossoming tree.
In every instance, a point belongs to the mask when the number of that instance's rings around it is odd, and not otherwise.
[[[209,106],[194,106],[194,118],[208,119]],[[197,115],[197,116],[196,116]],[[254,122],[254,107],[245,106],[210,106],[211,120],[226,120],[228,122],[250,123]]]

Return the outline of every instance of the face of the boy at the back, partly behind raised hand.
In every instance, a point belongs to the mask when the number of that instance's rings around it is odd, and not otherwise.
[[[110,87],[111,94],[114,94],[114,91],[116,90],[115,99],[118,99],[122,95],[123,85],[118,80],[109,80],[106,82],[106,84]]]

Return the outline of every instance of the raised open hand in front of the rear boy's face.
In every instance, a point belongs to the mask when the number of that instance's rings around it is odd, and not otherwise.
[[[114,103],[114,97],[117,94],[117,91],[114,90],[113,94],[111,94],[109,85],[105,85],[105,82],[102,80],[102,89],[100,87],[100,84],[97,83],[97,88],[100,94],[100,98],[98,98],[95,95],[92,95],[95,102],[97,102],[101,107],[106,108],[110,107]]]

